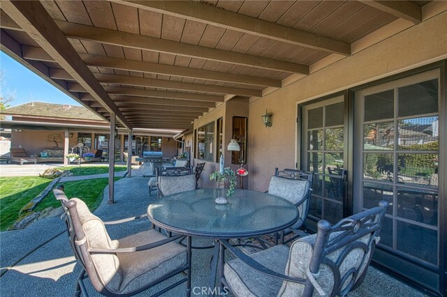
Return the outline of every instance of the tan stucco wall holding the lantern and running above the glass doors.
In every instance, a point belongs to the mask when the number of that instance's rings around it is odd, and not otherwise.
[[[346,57],[249,104],[251,190],[268,188],[274,168],[295,167],[296,116],[312,100],[405,70],[446,59],[447,12]],[[272,113],[272,128],[261,114]]]

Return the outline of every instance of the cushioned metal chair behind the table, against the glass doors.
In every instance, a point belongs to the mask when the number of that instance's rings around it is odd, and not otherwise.
[[[306,218],[309,213],[309,199],[312,194],[312,182],[314,181],[314,172],[305,172],[295,169],[274,169],[274,176],[270,179],[268,193],[277,195],[288,201],[291,201],[298,208],[300,217],[288,229],[281,231],[279,234],[270,236],[274,241],[274,245],[280,243],[289,243],[299,236],[307,236]],[[285,237],[289,236],[287,240]],[[261,245],[272,245],[270,241],[258,238]],[[263,245],[265,247],[265,245]]]

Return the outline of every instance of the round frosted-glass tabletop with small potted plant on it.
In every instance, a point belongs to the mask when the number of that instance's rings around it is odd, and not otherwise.
[[[228,204],[214,199],[226,190],[203,189],[168,195],[150,204],[156,226],[188,236],[245,238],[281,231],[298,220],[290,201],[263,192],[235,190]]]

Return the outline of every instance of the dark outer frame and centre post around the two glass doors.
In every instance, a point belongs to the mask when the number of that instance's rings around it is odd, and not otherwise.
[[[429,70],[439,69],[439,176],[446,177],[447,176],[447,158],[442,158],[441,156],[447,156],[447,60],[444,59],[442,61],[434,62],[429,65],[420,66],[419,68],[406,70],[402,73],[397,73],[395,75],[390,75],[385,78],[377,79],[374,82],[368,82],[365,84],[361,84],[358,86],[352,86],[351,89],[347,89],[346,91],[341,91],[337,93],[330,94],[328,96],[309,98],[309,101],[304,103],[297,103],[297,117],[296,117],[296,139],[295,139],[295,167],[298,169],[302,169],[302,107],[305,105],[313,104],[316,102],[320,102],[323,100],[327,100],[329,98],[334,98],[335,96],[344,95],[345,96],[345,123],[347,123],[348,135],[347,135],[347,150],[348,155],[346,160],[346,169],[347,172],[347,187],[346,187],[346,204],[344,203],[344,208],[346,208],[346,215],[351,215],[353,213],[353,151],[354,151],[354,92],[360,89],[365,89],[370,86],[374,86],[377,84],[383,84],[386,82],[390,82],[395,79],[401,79],[404,77],[409,77],[411,75],[416,75],[418,73],[423,73]],[[347,121],[347,122],[346,122]],[[439,183],[439,291],[433,291],[432,289],[421,286],[409,280],[409,278],[401,275],[397,271],[392,271],[389,268],[381,266],[388,273],[392,273],[396,275],[396,277],[405,280],[407,282],[411,282],[411,284],[416,285],[422,289],[430,291],[432,294],[437,296],[447,296],[447,183]],[[309,220],[308,220],[309,221]],[[373,260],[375,264],[376,261]],[[379,264],[380,266],[380,264]]]

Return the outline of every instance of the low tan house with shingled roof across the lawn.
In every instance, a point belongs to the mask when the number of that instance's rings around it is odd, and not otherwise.
[[[102,149],[108,158],[109,124],[89,109],[80,106],[59,105],[44,102],[30,102],[10,107],[3,114],[12,116],[11,121],[1,121],[2,128],[11,129],[10,147],[25,148],[28,155],[39,156],[42,152],[57,155],[64,162],[65,135],[68,135],[68,152],[77,144],[87,148]],[[163,156],[177,154],[174,141],[170,138],[178,131],[151,131],[140,129],[133,132],[133,155],[143,151],[163,151]],[[128,132],[118,130],[115,144],[115,160],[124,160],[128,151]],[[124,151],[122,148],[124,147]]]

